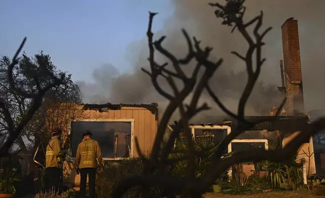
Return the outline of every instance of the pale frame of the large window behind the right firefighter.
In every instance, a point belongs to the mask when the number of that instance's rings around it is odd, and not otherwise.
[[[70,125],[69,125],[69,135],[72,132],[72,122],[131,122],[131,148],[129,151],[129,157],[127,158],[102,158],[103,160],[107,161],[121,161],[124,159],[132,158],[134,156],[134,122],[135,119],[78,119],[78,120],[71,120]],[[114,142],[113,142],[114,143]],[[72,144],[70,145],[70,156],[72,156]],[[75,160],[75,158],[71,159]]]

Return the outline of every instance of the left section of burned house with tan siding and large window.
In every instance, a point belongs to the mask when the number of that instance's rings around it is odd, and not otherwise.
[[[78,187],[80,175],[76,175],[74,165],[78,144],[82,133],[88,129],[92,138],[98,141],[103,160],[123,160],[138,157],[135,138],[140,150],[149,154],[157,131],[157,104],[149,105],[78,105],[67,133],[71,133],[69,156],[64,162],[64,183]]]

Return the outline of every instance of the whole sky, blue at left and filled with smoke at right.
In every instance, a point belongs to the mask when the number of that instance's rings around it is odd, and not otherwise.
[[[225,4],[224,0],[214,0]],[[84,102],[163,104],[164,98],[140,71],[148,66],[146,30],[148,11],[159,12],[154,18],[154,38],[167,35],[164,46],[176,56],[184,56],[186,43],[181,28],[212,46],[211,56],[224,58],[224,64],[211,83],[227,87],[223,76],[230,70],[243,70],[243,62],[231,51],[244,53],[247,43],[230,27],[216,19],[210,0],[0,0],[0,56],[13,56],[27,36],[24,50],[33,56],[43,50],[61,70],[73,74],[84,93]],[[290,17],[298,20],[299,42],[306,110],[325,109],[325,0],[247,0],[244,20],[264,11],[262,29],[273,26],[264,41],[267,59],[259,79],[265,84],[281,84],[279,60],[283,58],[281,25]],[[132,64],[129,63],[132,61]],[[156,61],[166,60],[156,56]],[[117,69],[116,69],[117,68]],[[120,71],[118,71],[120,70]],[[126,74],[125,72],[128,72]],[[244,84],[245,79],[229,79]],[[263,87],[261,87],[263,88]],[[241,89],[229,88],[229,92]],[[261,95],[265,94],[260,91]],[[273,95],[272,95],[273,96]],[[226,100],[227,99],[227,100]],[[230,100],[227,97],[225,101]],[[258,100],[262,101],[260,98]],[[231,102],[229,106],[236,108]],[[273,102],[272,102],[273,103]],[[160,107],[163,105],[160,105]],[[273,106],[273,105],[272,105]],[[325,111],[325,110],[324,110]]]

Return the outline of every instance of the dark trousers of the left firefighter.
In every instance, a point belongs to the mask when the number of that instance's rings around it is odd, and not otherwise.
[[[57,167],[47,167],[45,169],[46,191],[59,192],[61,170]]]

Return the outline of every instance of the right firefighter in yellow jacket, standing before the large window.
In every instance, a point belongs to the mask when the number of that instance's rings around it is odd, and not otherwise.
[[[91,139],[92,134],[89,130],[86,130],[82,136],[76,155],[76,169],[80,172],[80,194],[82,196],[85,194],[88,175],[89,197],[95,197],[97,166],[102,160],[100,147],[97,141]]]

